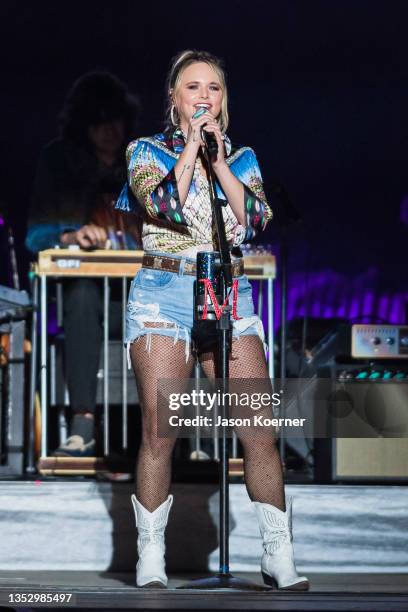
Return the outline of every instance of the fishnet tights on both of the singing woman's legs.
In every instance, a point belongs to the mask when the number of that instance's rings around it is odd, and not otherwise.
[[[142,443],[136,466],[136,496],[150,512],[168,496],[171,477],[171,455],[175,439],[157,436],[157,381],[160,378],[182,379],[191,376],[193,358],[186,363],[185,342],[152,335],[151,351],[145,338],[130,347],[142,408]],[[201,356],[205,374],[214,377],[214,355]],[[230,378],[268,379],[263,346],[258,336],[243,336],[233,342]],[[252,387],[252,390],[254,388]],[[263,414],[266,409],[258,411]],[[268,416],[271,416],[268,414]],[[285,510],[282,466],[276,440],[268,428],[265,433],[237,428],[244,450],[245,484],[252,501],[260,501]]]

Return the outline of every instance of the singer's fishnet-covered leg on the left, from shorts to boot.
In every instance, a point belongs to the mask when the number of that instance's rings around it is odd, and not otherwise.
[[[170,337],[153,334],[151,350],[144,337],[130,347],[142,409],[142,442],[136,464],[136,496],[149,512],[166,499],[170,488],[171,456],[175,438],[157,435],[157,381],[160,378],[188,378],[192,357],[186,363],[185,343],[174,344]]]

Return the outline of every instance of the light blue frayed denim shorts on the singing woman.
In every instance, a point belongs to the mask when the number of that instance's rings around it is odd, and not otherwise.
[[[183,274],[185,262],[195,259],[174,253],[151,252],[180,259],[179,272],[141,268],[132,281],[126,310],[126,346],[129,356],[130,344],[146,337],[146,349],[150,350],[151,336],[169,336],[174,343],[183,340],[186,344],[186,359],[190,354],[191,330],[193,327],[195,276]],[[237,315],[233,321],[233,337],[257,335],[264,342],[265,334],[259,317],[254,312],[252,287],[248,278],[238,277]],[[155,324],[159,326],[155,327]]]

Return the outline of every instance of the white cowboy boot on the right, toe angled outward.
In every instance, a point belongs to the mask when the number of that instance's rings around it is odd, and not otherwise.
[[[265,584],[289,591],[307,591],[309,581],[298,576],[292,546],[292,498],[287,499],[286,512],[271,504],[253,502],[263,539],[261,561]]]

